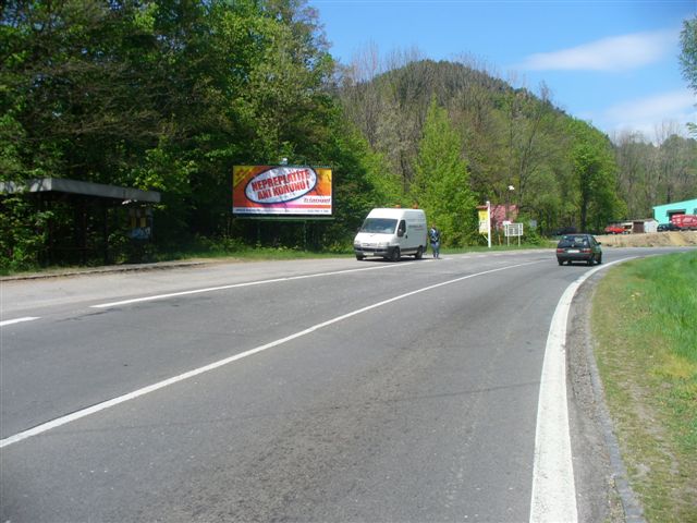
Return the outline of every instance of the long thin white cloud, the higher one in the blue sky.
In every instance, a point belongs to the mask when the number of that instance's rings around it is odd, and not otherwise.
[[[613,36],[570,49],[530,54],[519,65],[528,71],[624,71],[675,52],[678,33],[659,31]]]

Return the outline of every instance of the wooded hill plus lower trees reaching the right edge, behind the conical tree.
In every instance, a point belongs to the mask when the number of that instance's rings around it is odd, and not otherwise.
[[[591,122],[555,107],[547,86],[514,88],[463,63],[407,61],[369,76],[354,65],[341,100],[406,191],[407,204],[432,102],[460,138],[475,200],[516,204],[543,233],[650,218],[652,206],[697,194],[697,141],[675,124],[653,136],[625,132],[611,142]]]

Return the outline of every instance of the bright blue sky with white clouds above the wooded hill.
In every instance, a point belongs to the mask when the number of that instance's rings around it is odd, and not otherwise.
[[[677,57],[697,0],[308,0],[344,64],[372,50],[469,61],[613,136],[696,121]],[[661,131],[662,132],[662,131]],[[659,133],[660,135],[660,133]],[[660,139],[659,139],[660,142]]]

